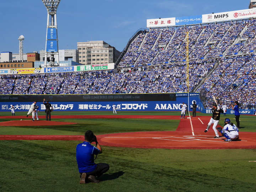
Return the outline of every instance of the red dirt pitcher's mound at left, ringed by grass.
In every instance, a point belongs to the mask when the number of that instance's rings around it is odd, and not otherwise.
[[[21,120],[21,121],[5,121],[0,122],[0,126],[56,126],[76,124],[73,122],[62,121],[44,121],[44,120]]]

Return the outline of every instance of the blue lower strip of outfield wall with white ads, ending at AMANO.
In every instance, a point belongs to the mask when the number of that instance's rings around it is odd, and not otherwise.
[[[52,101],[54,111],[111,111],[113,103],[117,110],[122,111],[180,111],[182,102],[177,101],[91,101],[91,102],[59,102]],[[8,111],[14,105],[15,111],[26,111],[30,109],[32,102],[1,103],[1,111]],[[43,102],[37,102],[39,110],[45,110]]]

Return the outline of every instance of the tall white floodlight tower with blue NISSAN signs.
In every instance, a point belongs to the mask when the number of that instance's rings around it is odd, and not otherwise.
[[[59,66],[58,33],[57,33],[57,8],[60,0],[42,0],[46,6],[47,32],[46,32],[46,52],[44,66]],[[56,56],[55,56],[56,55]],[[54,57],[55,56],[55,57]],[[55,63],[56,58],[56,63]],[[47,65],[48,62],[48,65]]]

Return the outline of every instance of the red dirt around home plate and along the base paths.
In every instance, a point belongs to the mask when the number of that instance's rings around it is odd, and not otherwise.
[[[0,117],[1,118],[1,117]],[[7,117],[5,117],[7,118]],[[8,117],[9,118],[9,117]],[[16,117],[17,118],[17,117]],[[180,116],[53,116],[53,118],[146,118],[146,119],[179,119]],[[239,140],[225,142],[224,137],[214,138],[212,127],[207,133],[204,130],[210,117],[198,116],[191,119],[180,119],[176,131],[165,132],[133,132],[97,135],[102,145],[119,146],[128,148],[164,148],[164,149],[255,149],[256,133],[239,133]],[[54,119],[53,119],[54,120]],[[14,126],[21,126],[21,121],[2,122],[0,126],[7,126],[4,123]],[[38,123],[38,125],[34,124]],[[22,126],[40,126],[43,123],[69,123],[54,121],[31,121],[22,120]],[[27,124],[27,125],[25,125]],[[70,123],[73,124],[73,123]],[[193,131],[192,131],[193,130]],[[0,140],[83,140],[83,135],[0,135]]]

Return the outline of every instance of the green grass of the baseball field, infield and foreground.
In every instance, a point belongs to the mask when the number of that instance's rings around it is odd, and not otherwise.
[[[57,113],[57,112],[56,112]],[[11,113],[1,112],[1,116]],[[58,115],[105,114],[72,112]],[[117,115],[180,115],[180,112],[119,112]],[[25,113],[16,113],[24,115]],[[39,115],[43,115],[39,114]],[[55,115],[55,113],[52,113]],[[202,114],[205,116],[209,114]],[[233,115],[226,116],[233,120]],[[210,118],[210,117],[209,117]],[[240,131],[256,132],[256,116],[241,116]],[[0,122],[15,119],[0,119]],[[17,119],[20,120],[20,119]],[[180,120],[52,119],[75,125],[0,126],[0,135],[96,135],[173,131]],[[221,117],[220,122],[223,122]],[[233,120],[235,122],[235,120]],[[221,123],[222,124],[222,123]],[[0,140],[0,191],[255,191],[256,149],[175,150],[102,146],[96,163],[110,170],[100,183],[79,184],[75,148],[80,141]]]

